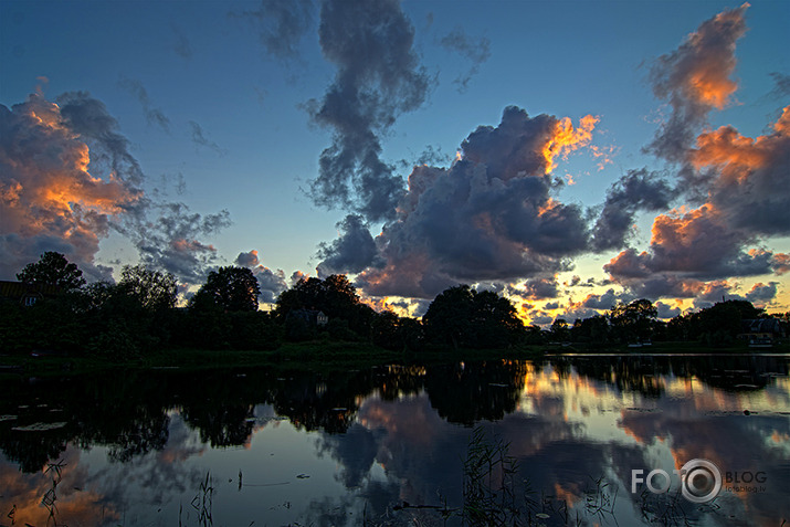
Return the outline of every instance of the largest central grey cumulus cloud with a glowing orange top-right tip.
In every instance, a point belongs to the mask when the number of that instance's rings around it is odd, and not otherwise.
[[[558,157],[586,145],[597,120],[579,127],[508,107],[498,126],[481,126],[449,168],[419,166],[398,219],[377,238],[386,265],[364,271],[371,295],[435,296],[459,282],[554,275],[589,243],[584,211],[552,197]]]

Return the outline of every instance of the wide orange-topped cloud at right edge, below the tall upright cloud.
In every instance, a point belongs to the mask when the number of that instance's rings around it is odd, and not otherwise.
[[[650,251],[623,251],[604,270],[630,285],[646,277],[657,285],[654,275],[675,274],[665,281],[666,294],[676,293],[674,286],[687,278],[787,272],[786,254],[748,247],[765,236],[790,234],[790,189],[781,183],[790,170],[789,133],[787,107],[773,131],[756,139],[731,126],[699,134],[687,154],[687,173],[706,202],[660,214],[653,222]],[[645,285],[641,282],[639,287]]]

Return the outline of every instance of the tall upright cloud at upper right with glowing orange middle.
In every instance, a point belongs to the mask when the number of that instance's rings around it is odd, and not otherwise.
[[[736,65],[735,44],[746,33],[748,7],[745,3],[706,20],[675,51],[655,61],[653,92],[670,103],[672,113],[647,147],[650,151],[671,161],[685,160],[695,129],[712,109],[730,102],[737,88],[729,78]]]

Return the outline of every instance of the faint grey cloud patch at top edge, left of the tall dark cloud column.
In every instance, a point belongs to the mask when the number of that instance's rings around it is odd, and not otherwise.
[[[312,0],[261,0],[254,11],[232,17],[250,21],[266,52],[277,59],[296,59],[302,38],[313,25]]]

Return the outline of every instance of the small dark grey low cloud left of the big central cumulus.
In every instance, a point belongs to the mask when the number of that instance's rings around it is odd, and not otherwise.
[[[367,267],[382,265],[373,236],[362,217],[349,214],[337,223],[337,228],[341,231],[340,238],[319,245],[318,257],[323,259],[317,267],[319,276],[359,273]]]

